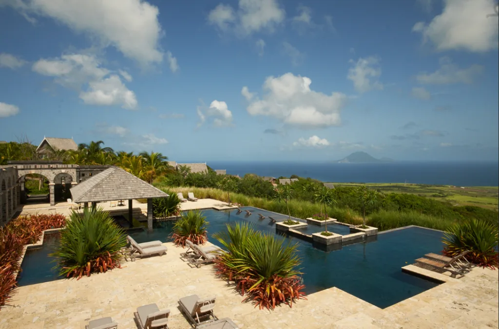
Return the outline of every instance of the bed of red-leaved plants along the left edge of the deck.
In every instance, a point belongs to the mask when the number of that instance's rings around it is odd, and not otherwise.
[[[25,244],[36,243],[42,231],[66,223],[61,214],[17,217],[0,227],[0,307],[10,298],[16,284],[19,258]]]

